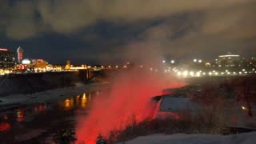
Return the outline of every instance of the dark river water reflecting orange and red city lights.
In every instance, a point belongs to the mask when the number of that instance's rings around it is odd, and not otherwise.
[[[51,136],[58,130],[74,129],[76,114],[87,114],[93,95],[85,93],[61,102],[1,111],[0,143],[50,143]]]

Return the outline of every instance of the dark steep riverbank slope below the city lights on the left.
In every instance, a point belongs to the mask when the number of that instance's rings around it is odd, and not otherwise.
[[[74,86],[81,82],[78,72],[46,72],[0,76],[0,98],[14,94],[35,94],[40,91]]]

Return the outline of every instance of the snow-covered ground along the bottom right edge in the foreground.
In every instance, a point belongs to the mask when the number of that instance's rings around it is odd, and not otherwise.
[[[126,144],[254,144],[256,132],[228,136],[210,134],[154,134],[138,137]],[[121,143],[120,143],[121,144]]]

